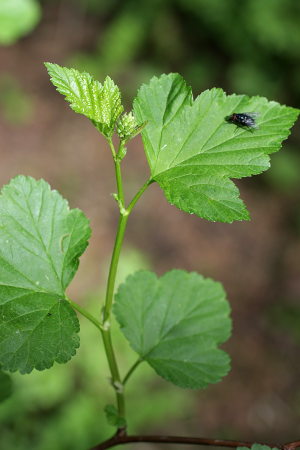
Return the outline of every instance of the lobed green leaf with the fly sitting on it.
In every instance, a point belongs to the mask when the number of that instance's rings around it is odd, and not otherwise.
[[[259,130],[227,123],[233,112],[257,111]],[[133,102],[142,131],[151,177],[167,200],[185,212],[208,220],[248,219],[239,191],[229,178],[261,173],[269,153],[289,135],[298,109],[264,97],[226,95],[205,90],[194,101],[191,88],[177,73],[153,77]]]

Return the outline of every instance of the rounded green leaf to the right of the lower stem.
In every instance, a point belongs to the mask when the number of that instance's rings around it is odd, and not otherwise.
[[[215,383],[229,370],[217,346],[231,329],[222,285],[198,273],[150,270],[126,279],[113,312],[131,347],[173,384],[194,389]]]

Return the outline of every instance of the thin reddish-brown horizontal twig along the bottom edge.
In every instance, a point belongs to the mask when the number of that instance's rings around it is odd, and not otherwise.
[[[193,444],[193,445],[214,445],[219,447],[248,447],[251,448],[254,442],[243,442],[239,440],[227,439],[208,439],[203,437],[183,437],[183,436],[127,436],[125,429],[119,429],[110,439],[100,443],[92,450],[106,450],[106,448],[113,447],[130,442],[157,442],[157,443],[178,443],[178,444]],[[259,443],[259,442],[258,442]],[[300,440],[285,444],[270,444],[261,443],[261,445],[268,445],[271,448],[278,448],[279,450],[294,450],[300,446]]]

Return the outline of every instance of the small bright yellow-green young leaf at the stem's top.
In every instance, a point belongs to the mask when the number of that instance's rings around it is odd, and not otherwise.
[[[121,94],[113,80],[106,76],[101,85],[86,72],[73,68],[60,67],[45,62],[50,79],[56,90],[70,101],[70,107],[86,115],[94,126],[108,139],[113,134],[116,119],[123,110]]]

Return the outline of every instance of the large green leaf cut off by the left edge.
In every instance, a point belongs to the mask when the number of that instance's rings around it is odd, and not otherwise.
[[[88,219],[44,180],[22,175],[0,196],[0,364],[21,373],[62,363],[79,346],[65,295],[90,236]]]

